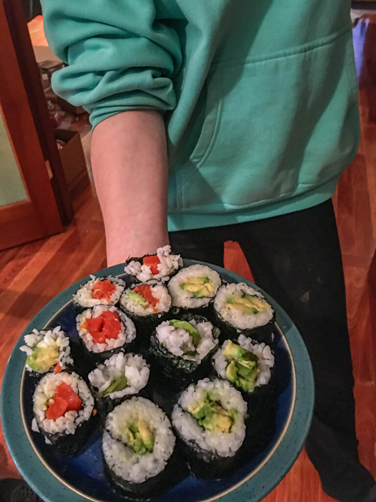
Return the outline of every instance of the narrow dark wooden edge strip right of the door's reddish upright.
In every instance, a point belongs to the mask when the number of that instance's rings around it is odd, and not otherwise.
[[[54,130],[30,40],[27,19],[21,0],[3,0],[3,4],[43,156],[45,160],[50,162],[54,175],[51,185],[61,219],[66,224],[73,218],[73,205],[56,147]]]

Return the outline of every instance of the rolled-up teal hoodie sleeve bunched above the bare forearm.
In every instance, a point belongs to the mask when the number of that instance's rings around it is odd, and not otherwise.
[[[154,0],[42,0],[46,37],[68,64],[54,91],[90,113],[93,128],[135,108],[171,110],[181,65],[176,32],[156,19]]]

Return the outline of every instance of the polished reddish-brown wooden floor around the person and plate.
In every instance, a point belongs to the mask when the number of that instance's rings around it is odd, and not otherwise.
[[[346,281],[359,456],[376,476],[376,290],[371,289],[368,280],[376,243],[376,15],[363,17],[353,35],[360,84],[361,140],[359,152],[343,174],[333,200]],[[103,223],[92,189],[76,200],[75,209],[75,219],[64,233],[0,253],[1,376],[15,341],[30,319],[71,283],[105,266]],[[226,243],[225,265],[252,279],[236,243]],[[19,473],[0,437],[0,478],[9,476],[18,477]],[[318,475],[303,451],[264,500],[333,499],[322,492]]]

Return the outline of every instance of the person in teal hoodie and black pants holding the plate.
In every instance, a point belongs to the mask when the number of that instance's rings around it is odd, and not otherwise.
[[[108,265],[175,253],[223,266],[236,240],[296,323],[316,404],[306,442],[324,491],[376,500],[359,463],[336,183],[359,139],[350,2],[42,0],[90,112]]]

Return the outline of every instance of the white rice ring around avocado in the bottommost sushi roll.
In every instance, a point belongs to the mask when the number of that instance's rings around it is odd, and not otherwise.
[[[153,432],[151,453],[140,455],[126,445],[125,428],[142,420]],[[102,448],[109,468],[119,477],[133,483],[142,483],[161,472],[172,455],[175,436],[166,414],[151,401],[133,397],[109,413]]]

